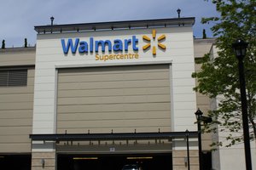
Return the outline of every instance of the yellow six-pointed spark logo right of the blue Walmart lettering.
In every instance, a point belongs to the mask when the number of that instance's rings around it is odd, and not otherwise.
[[[155,40],[155,37],[156,37],[156,31],[155,30],[152,30],[152,37]],[[159,48],[166,49],[166,46],[160,42],[160,41],[162,41],[164,39],[166,39],[166,35],[164,35],[164,34],[157,38],[158,47]],[[146,45],[143,46],[143,50],[146,50],[146,49],[150,48],[150,46],[151,46],[151,39],[150,39],[150,37],[143,36],[143,40],[146,40],[148,42]],[[156,54],[155,46],[153,46],[152,54],[153,55]]]

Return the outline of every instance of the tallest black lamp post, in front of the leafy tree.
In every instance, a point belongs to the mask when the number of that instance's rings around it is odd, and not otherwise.
[[[232,47],[236,53],[238,59],[239,69],[239,81],[240,81],[240,94],[241,94],[241,116],[242,116],[242,127],[243,127],[243,139],[244,139],[244,150],[247,170],[252,170],[251,160],[251,147],[250,147],[250,136],[248,127],[248,115],[247,115],[247,96],[246,96],[246,82],[244,77],[243,59],[247,51],[247,42],[238,39],[232,44]]]

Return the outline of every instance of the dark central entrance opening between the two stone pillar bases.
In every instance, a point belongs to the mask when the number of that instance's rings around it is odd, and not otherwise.
[[[141,170],[172,169],[172,154],[153,155],[58,155],[58,170],[121,170],[125,165]]]

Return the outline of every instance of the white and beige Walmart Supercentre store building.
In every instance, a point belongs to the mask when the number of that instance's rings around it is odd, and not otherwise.
[[[190,168],[198,169],[194,112],[207,110],[207,99],[193,91],[194,23],[35,26],[36,48],[2,49],[1,166],[188,169],[188,135]]]

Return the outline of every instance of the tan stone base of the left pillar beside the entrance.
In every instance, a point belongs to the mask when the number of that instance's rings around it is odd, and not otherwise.
[[[32,170],[55,170],[55,158],[55,152],[32,152]]]

